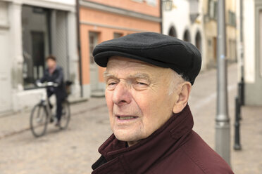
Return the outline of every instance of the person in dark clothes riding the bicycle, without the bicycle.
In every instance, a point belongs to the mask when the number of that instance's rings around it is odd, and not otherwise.
[[[66,86],[63,82],[63,68],[56,64],[56,57],[49,55],[46,58],[47,68],[44,70],[44,76],[40,79],[41,83],[45,81],[57,83],[58,86],[49,86],[47,88],[47,95],[56,95],[56,126],[60,126],[60,119],[62,115],[62,102],[66,99]]]

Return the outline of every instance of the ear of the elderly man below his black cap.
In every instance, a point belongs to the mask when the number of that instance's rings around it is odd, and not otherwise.
[[[177,100],[173,107],[173,113],[176,114],[182,112],[182,109],[187,105],[191,88],[192,85],[188,81],[180,84],[180,87],[177,90]]]

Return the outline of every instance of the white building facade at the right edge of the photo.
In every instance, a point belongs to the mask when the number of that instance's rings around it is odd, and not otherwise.
[[[262,1],[242,2],[243,44],[238,42],[238,48],[243,49],[244,53],[244,104],[262,106]],[[240,1],[237,3],[237,9],[240,8],[239,3]],[[240,14],[238,16],[240,18]],[[241,55],[239,65],[240,57]]]

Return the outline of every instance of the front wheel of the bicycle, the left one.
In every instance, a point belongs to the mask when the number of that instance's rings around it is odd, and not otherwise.
[[[35,105],[30,116],[30,129],[35,137],[40,137],[46,133],[48,116],[44,105]]]

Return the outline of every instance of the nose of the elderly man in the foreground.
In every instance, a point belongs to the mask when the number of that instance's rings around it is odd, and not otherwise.
[[[120,81],[113,91],[113,102],[118,105],[126,105],[131,102],[130,87],[127,83]]]

